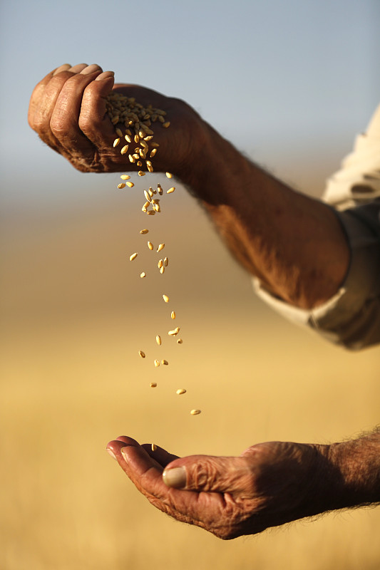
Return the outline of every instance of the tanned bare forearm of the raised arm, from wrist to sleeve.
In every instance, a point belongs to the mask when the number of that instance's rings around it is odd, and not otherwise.
[[[252,164],[210,125],[179,177],[200,198],[233,256],[281,299],[303,309],[339,290],[349,246],[333,210]]]

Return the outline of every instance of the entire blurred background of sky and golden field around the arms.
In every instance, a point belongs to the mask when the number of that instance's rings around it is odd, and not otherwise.
[[[75,172],[29,130],[26,109],[51,68],[96,61],[187,99],[247,156],[320,196],[378,103],[379,4],[111,2],[116,21],[97,1],[64,6],[1,6],[11,89],[0,105],[0,568],[377,569],[379,509],[222,542],[165,517],[126,480],[105,450],[122,434],[178,455],[237,455],[371,429],[380,351],[330,346],[267,309],[178,184],[148,219],[170,266],[141,280],[148,250],[128,257],[146,241],[142,182],[126,192],[118,174]],[[130,24],[139,18],[144,41]],[[137,351],[173,324],[163,292],[184,342],[165,338],[170,366],[156,370]]]

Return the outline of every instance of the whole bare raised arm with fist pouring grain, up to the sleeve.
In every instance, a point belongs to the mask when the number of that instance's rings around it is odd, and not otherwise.
[[[99,66],[65,65],[31,96],[31,128],[82,172],[137,168],[113,147],[106,113],[113,81]],[[117,90],[165,110],[170,130],[154,129],[155,171],[169,170],[192,189],[234,256],[269,291],[307,309],[337,292],[349,247],[332,209],[253,165],[183,101],[140,86]]]

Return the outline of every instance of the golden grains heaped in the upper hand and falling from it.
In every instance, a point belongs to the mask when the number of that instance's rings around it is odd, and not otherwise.
[[[128,160],[130,164],[136,165],[141,170],[138,170],[138,176],[145,176],[145,171],[153,172],[153,164],[150,159],[153,159],[155,154],[158,152],[159,144],[153,141],[153,123],[160,123],[163,128],[170,127],[170,122],[165,119],[165,111],[162,109],[153,108],[152,105],[145,107],[138,103],[133,97],[126,97],[121,93],[113,91],[106,99],[106,110],[108,116],[111,118],[111,123],[115,126],[115,140],[113,141],[113,147],[120,147],[121,155],[128,155]],[[166,177],[170,179],[172,175],[170,172],[166,172]],[[125,186],[132,188],[134,186],[133,182],[130,182],[129,175],[121,175],[121,182],[118,188],[123,189]],[[175,187],[170,187],[166,190],[166,194],[170,195],[175,191]],[[160,199],[164,194],[163,187],[158,183],[155,188],[149,186],[146,190],[143,190],[144,203],[141,208],[142,212],[148,216],[154,216],[161,213]],[[144,228],[140,230],[140,234],[148,234],[149,230]],[[153,251],[155,246],[152,242],[147,242],[148,248]],[[155,249],[157,253],[162,252],[165,244],[160,243]],[[138,257],[138,252],[130,254],[130,261],[134,261]],[[158,260],[157,267],[160,274],[168,268],[169,259],[168,257],[163,257]],[[144,279],[146,272],[142,271],[140,273],[140,278]],[[163,294],[163,301],[169,303],[168,295]],[[176,318],[175,311],[171,311],[170,317],[174,320]],[[180,332],[180,327],[176,326],[173,330],[168,331],[170,337],[177,337]],[[161,345],[162,339],[160,335],[155,337],[158,346]],[[182,338],[177,338],[178,345],[183,343]],[[145,352],[142,350],[138,351],[140,358],[145,358]],[[158,368],[160,365],[168,366],[168,361],[165,359],[155,358],[153,360],[153,365]],[[157,382],[151,382],[150,388],[156,388]],[[183,395],[186,393],[185,388],[178,388],[176,394]],[[200,410],[191,410],[191,415],[200,414]],[[154,444],[152,445],[153,449]],[[154,451],[154,449],[153,449]]]

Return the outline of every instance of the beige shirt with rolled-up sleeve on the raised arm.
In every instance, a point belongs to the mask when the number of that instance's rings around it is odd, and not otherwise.
[[[380,105],[340,170],[327,180],[322,199],[334,209],[351,249],[337,294],[317,309],[304,310],[273,296],[256,278],[255,291],[284,317],[333,343],[354,350],[380,343]]]

